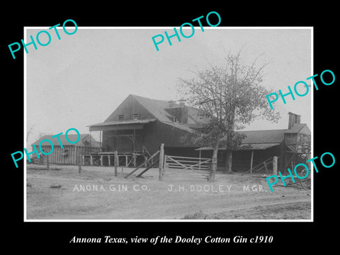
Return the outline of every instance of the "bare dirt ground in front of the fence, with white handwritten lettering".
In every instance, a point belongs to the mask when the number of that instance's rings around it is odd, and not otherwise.
[[[132,169],[28,165],[27,220],[310,220],[311,191],[268,188],[263,176],[158,169],[129,179]],[[142,169],[136,173],[140,173]]]

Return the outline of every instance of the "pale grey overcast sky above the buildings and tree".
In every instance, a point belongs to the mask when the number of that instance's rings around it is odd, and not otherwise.
[[[27,30],[35,35],[48,28]],[[72,29],[69,28],[72,32]],[[312,75],[311,30],[305,29],[231,29],[196,28],[191,38],[172,38],[154,47],[152,36],[169,35],[173,28],[78,28],[74,35],[59,30],[57,39],[50,30],[50,45],[28,46],[26,55],[26,129],[33,125],[28,145],[41,133],[55,135],[77,128],[89,133],[86,125],[101,123],[129,95],[170,100],[179,99],[179,77],[190,78],[190,71],[211,64],[223,64],[226,52],[237,53],[241,47],[245,64],[259,57],[259,64],[269,62],[263,85],[287,91],[297,81]],[[190,34],[190,31],[186,31]],[[40,40],[46,42],[45,34]],[[25,39],[27,43],[27,39]],[[310,81],[307,82],[310,84]],[[302,93],[302,92],[301,92]],[[280,112],[278,123],[263,120],[246,130],[283,129],[288,127],[288,112],[301,115],[301,123],[311,128],[311,97],[296,96],[274,103]],[[96,135],[98,132],[92,132]],[[30,146],[26,147],[30,147]]]

